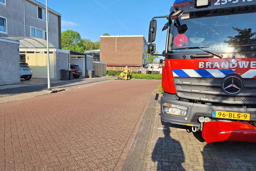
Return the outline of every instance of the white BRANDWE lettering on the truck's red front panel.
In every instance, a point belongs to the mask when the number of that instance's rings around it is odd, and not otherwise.
[[[237,62],[235,64],[231,62],[199,62],[199,68],[256,68],[256,62]]]

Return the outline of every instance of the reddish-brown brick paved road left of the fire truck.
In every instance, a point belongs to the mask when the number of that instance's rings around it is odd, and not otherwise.
[[[0,170],[114,169],[159,84],[112,81],[1,104]]]

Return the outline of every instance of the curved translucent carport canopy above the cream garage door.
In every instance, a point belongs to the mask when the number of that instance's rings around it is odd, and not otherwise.
[[[4,37],[9,40],[19,41],[19,48],[47,48],[47,41],[38,37]],[[49,42],[49,48],[56,48]]]

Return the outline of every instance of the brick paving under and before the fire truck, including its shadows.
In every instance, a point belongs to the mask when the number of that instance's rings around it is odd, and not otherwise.
[[[143,164],[136,170],[256,170],[256,143],[207,144],[200,134],[192,133],[190,127],[163,126],[159,114],[160,105],[157,104],[153,122],[147,119],[140,128],[139,138],[133,144],[136,150],[130,150],[131,156],[127,157],[123,170],[135,170],[138,161]],[[152,112],[147,115],[151,118]],[[150,137],[140,134],[148,127],[153,127]],[[139,157],[145,155],[147,157]]]

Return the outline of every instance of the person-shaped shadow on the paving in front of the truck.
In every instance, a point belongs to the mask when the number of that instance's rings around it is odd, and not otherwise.
[[[185,170],[182,163],[185,161],[181,144],[171,138],[170,128],[165,126],[164,137],[158,138],[152,153],[152,160],[157,161],[157,170]]]

